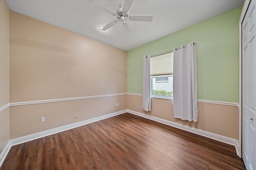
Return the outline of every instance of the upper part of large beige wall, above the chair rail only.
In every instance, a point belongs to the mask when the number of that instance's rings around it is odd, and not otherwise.
[[[10,12],[10,102],[127,92],[127,52]]]

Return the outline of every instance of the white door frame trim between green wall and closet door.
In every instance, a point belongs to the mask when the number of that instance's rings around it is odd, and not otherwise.
[[[239,29],[239,152],[238,156],[242,157],[242,22],[248,10],[251,0],[245,0],[244,6],[240,15],[238,29]]]

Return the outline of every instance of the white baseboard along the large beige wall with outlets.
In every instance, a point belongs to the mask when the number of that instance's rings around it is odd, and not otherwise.
[[[85,120],[85,121],[80,121],[78,123],[73,123],[73,124],[70,124],[70,125],[65,125],[65,126],[57,127],[57,128],[50,129],[50,130],[47,130],[47,131],[42,131],[42,132],[39,132],[39,133],[34,133],[34,134],[31,134],[31,135],[27,135],[27,136],[24,136],[24,137],[19,137],[19,138],[16,138],[16,139],[12,139],[11,140],[11,146],[18,145],[18,144],[21,144],[21,143],[25,143],[25,142],[28,142],[28,141],[32,141],[34,139],[38,139],[38,138],[41,138],[41,137],[45,137],[45,136],[48,136],[48,135],[52,135],[52,134],[55,134],[55,133],[66,131],[66,130],[69,130],[69,129],[73,129],[75,127],[79,127],[79,126],[86,125],[86,124],[89,124],[89,123],[93,123],[93,122],[96,122],[96,121],[100,121],[102,119],[107,119],[109,117],[120,115],[122,113],[126,113],[126,110],[118,111],[118,112],[115,112],[115,113],[110,113],[108,115],[95,117],[95,118],[88,119],[88,120]]]

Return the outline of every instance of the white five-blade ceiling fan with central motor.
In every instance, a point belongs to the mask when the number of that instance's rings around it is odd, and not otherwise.
[[[132,33],[128,23],[125,20],[131,20],[131,21],[145,21],[145,22],[151,22],[153,16],[148,16],[148,15],[136,15],[136,16],[129,16],[129,12],[128,10],[130,9],[131,5],[132,5],[133,0],[125,0],[124,1],[124,5],[120,5],[119,8],[116,10],[116,12],[110,10],[109,8],[107,8],[106,6],[103,6],[101,4],[99,4],[98,2],[95,2],[94,0],[92,1],[92,6],[95,6],[96,8],[99,8],[113,16],[116,16],[117,20],[110,22],[108,25],[105,26],[101,26],[100,30],[102,31],[106,31],[107,29],[109,29],[110,27],[116,25],[118,23],[118,21],[120,21],[120,23],[122,22],[124,29],[126,31],[126,33],[128,35],[130,35]]]

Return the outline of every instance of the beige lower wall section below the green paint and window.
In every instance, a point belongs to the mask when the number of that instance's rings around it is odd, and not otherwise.
[[[196,123],[174,118],[172,100],[152,98],[150,112],[142,110],[141,106],[142,96],[127,95],[127,108],[130,110],[225,137],[239,139],[239,109],[237,106],[198,102],[198,121]]]

